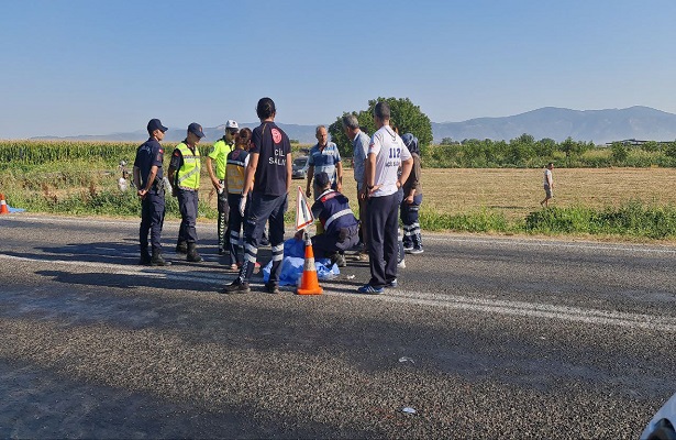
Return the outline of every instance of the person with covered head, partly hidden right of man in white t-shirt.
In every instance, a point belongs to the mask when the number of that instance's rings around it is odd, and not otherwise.
[[[401,140],[413,157],[413,168],[403,184],[403,200],[401,201],[400,218],[403,224],[403,250],[408,254],[421,254],[422,234],[420,233],[420,205],[422,204],[422,184],[420,182],[421,163],[418,138],[406,133]]]

